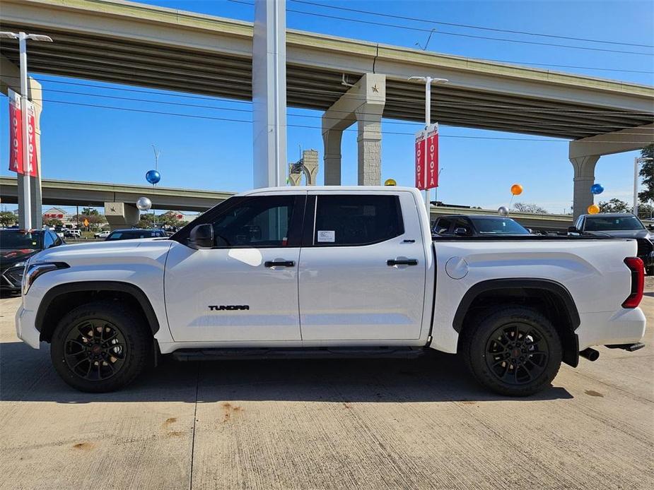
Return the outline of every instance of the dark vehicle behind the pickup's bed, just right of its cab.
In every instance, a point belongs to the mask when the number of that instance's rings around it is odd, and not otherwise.
[[[433,234],[459,237],[528,235],[530,231],[510,217],[492,215],[448,215],[434,222]]]

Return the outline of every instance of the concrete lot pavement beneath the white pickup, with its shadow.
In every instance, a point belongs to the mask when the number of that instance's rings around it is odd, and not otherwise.
[[[455,356],[166,359],[126,390],[78,393],[0,299],[2,489],[651,489],[654,329],[526,399]],[[643,301],[654,325],[654,281]]]

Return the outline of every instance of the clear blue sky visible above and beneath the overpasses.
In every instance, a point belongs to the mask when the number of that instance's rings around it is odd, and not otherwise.
[[[246,0],[244,0],[246,1]],[[327,0],[311,0],[327,4]],[[215,16],[252,20],[254,8],[231,1],[162,1],[144,3],[209,13]],[[482,25],[491,28],[544,32],[554,35],[585,37],[600,40],[654,44],[654,2],[643,1],[332,1],[334,6],[346,6],[366,11],[413,16],[451,23]],[[425,28],[424,23],[393,20],[347,13],[287,0],[289,10],[323,13],[332,16],[368,19]],[[287,26],[329,35],[356,37],[385,44],[414,47],[424,44],[426,32],[386,28],[361,23],[287,12]],[[438,30],[515,40],[575,44],[624,51],[653,52],[645,47],[624,47],[545,37],[526,37],[499,32],[484,32],[457,27],[436,26]],[[595,52],[581,49],[538,46],[479,40],[436,34],[429,44],[430,51],[473,56],[484,59],[522,61],[585,67],[604,67],[624,71],[595,71],[583,68],[551,68],[558,71],[583,73],[602,78],[654,85],[654,56]],[[542,68],[547,68],[543,66]],[[650,73],[631,73],[648,71]],[[161,150],[159,169],[161,186],[196,189],[243,191],[252,187],[252,125],[243,122],[196,119],[193,117],[142,114],[111,109],[62,104],[54,101],[81,102],[127,107],[160,112],[177,112],[194,116],[223,117],[251,120],[251,104],[217,99],[173,97],[165,92],[124,92],[110,90],[117,85],[99,84],[87,80],[71,80],[35,75],[45,88],[45,110],[42,114],[42,174],[45,178],[106,181],[146,184],[145,172],[153,167],[151,144]],[[107,88],[70,85],[88,83]],[[122,87],[129,88],[129,87]],[[77,95],[117,95],[136,99],[113,100]],[[136,88],[135,90],[144,90]],[[169,104],[200,104],[212,107],[240,109],[208,109]],[[0,103],[0,133],[8,134],[6,101]],[[245,112],[243,112],[245,110]],[[288,114],[320,116],[320,112],[289,108]],[[289,124],[306,124],[316,129],[288,129],[288,160],[299,157],[298,145],[319,150],[322,160],[320,119],[289,116]],[[354,128],[353,128],[354,129]],[[385,120],[383,131],[414,133],[419,124],[397,124]],[[443,136],[515,137],[531,136],[479,131],[442,126]],[[0,174],[8,171],[7,137],[0,142]],[[413,136],[385,134],[383,136],[383,179],[389,177],[400,185],[414,181]],[[518,182],[525,191],[520,201],[537,203],[554,213],[570,208],[573,171],[567,158],[566,141],[502,141],[489,139],[443,138],[440,141],[440,176],[438,199],[447,203],[480,205],[497,208],[510,199],[510,185]],[[636,152],[602,157],[595,175],[605,186],[602,200],[617,197],[630,200],[633,183],[633,156]],[[343,184],[356,184],[356,131],[347,131],[343,139]],[[322,183],[322,172],[319,175]],[[599,201],[598,199],[596,201]],[[83,203],[80,203],[81,205]],[[8,206],[9,209],[15,206]]]

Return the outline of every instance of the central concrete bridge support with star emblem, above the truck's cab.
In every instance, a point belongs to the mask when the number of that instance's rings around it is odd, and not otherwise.
[[[386,103],[386,76],[366,73],[322,115],[325,185],[341,184],[341,136],[358,126],[358,184],[381,183],[381,120]]]

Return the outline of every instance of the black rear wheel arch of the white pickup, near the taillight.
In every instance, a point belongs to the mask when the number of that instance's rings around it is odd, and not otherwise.
[[[463,316],[460,315],[460,311],[457,311],[459,317],[459,329],[457,330],[459,332],[459,342],[461,342],[464,330],[474,328],[474,318],[479,313],[491,308],[497,309],[498,306],[509,305],[535,309],[551,321],[561,339],[563,361],[570,366],[577,366],[579,362],[579,342],[575,330],[579,325],[578,313],[576,309],[570,311],[566,298],[551,288],[505,287],[480,292],[469,301]],[[463,301],[461,306],[464,306]],[[455,328],[457,328],[457,325],[455,325]]]

